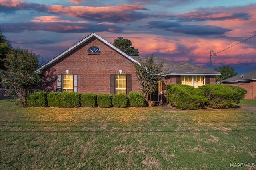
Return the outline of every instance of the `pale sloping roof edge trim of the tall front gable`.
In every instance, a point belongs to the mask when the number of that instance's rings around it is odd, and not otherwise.
[[[103,39],[102,37],[100,37],[99,35],[97,35],[96,33],[91,33],[90,35],[88,35],[87,37],[85,37],[84,39],[82,39],[81,41],[79,41],[78,43],[76,43],[75,45],[73,45],[72,47],[68,48],[67,50],[65,50],[64,52],[60,53],[59,55],[57,55],[56,57],[54,57],[53,59],[51,59],[50,61],[48,61],[47,63],[45,63],[41,68],[39,68],[39,70],[43,70],[44,68],[48,67],[50,64],[58,61],[59,59],[61,59],[62,57],[66,56],[68,53],[70,53],[71,51],[73,51],[74,49],[76,49],[77,47],[79,47],[80,45],[86,43],[88,40],[92,39],[93,37],[96,37],[98,40],[100,40],[102,43],[104,43],[105,45],[107,45],[108,47],[112,48],[114,51],[120,53],[121,55],[123,55],[124,57],[126,57],[127,59],[129,59],[132,62],[136,62],[138,64],[140,64],[138,61],[134,60],[132,57],[130,57],[129,55],[127,55],[126,53],[124,53],[123,51],[121,51],[120,49],[116,48],[114,45],[110,44],[108,41],[106,41],[105,39]]]

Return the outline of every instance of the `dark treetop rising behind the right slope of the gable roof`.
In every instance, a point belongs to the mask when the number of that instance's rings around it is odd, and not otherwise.
[[[123,39],[123,37],[118,37],[114,40],[113,45],[129,56],[139,56],[139,50],[131,47],[132,41],[130,41],[129,39]]]

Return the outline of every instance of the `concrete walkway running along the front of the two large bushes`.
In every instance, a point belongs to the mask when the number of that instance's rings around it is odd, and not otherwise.
[[[234,109],[211,109],[211,108],[207,108],[207,109],[201,109],[201,110],[180,110],[180,109],[177,109],[175,107],[172,107],[170,105],[161,105],[161,106],[157,106],[158,109],[162,110],[162,111],[165,111],[165,112],[176,112],[176,111],[179,111],[179,112],[186,112],[186,111],[252,111],[252,112],[255,112],[256,113],[256,107],[254,106],[238,106]]]

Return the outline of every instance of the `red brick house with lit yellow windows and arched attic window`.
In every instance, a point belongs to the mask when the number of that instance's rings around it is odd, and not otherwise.
[[[219,72],[184,61],[176,64],[154,57],[155,63],[162,61],[162,72],[168,74],[158,84],[155,101],[165,100],[164,90],[167,84],[181,83],[198,87],[215,84],[215,76],[220,75]],[[126,55],[96,33],[92,33],[40,68],[44,77],[40,88],[48,92],[112,95],[129,94],[130,91],[142,92],[135,74],[134,62],[140,64],[139,57]]]

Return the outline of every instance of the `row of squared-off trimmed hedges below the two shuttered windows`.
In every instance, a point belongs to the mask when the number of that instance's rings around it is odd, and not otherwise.
[[[129,100],[126,94],[81,94],[68,92],[35,91],[27,98],[28,107],[144,107],[144,95],[130,92]]]

